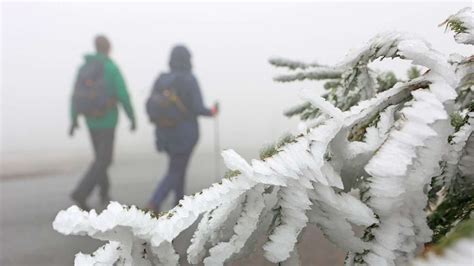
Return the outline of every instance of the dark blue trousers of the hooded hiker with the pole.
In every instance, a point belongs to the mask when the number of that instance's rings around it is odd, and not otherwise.
[[[188,167],[191,152],[169,154],[168,171],[163,180],[155,190],[151,202],[155,208],[159,208],[168,193],[173,190],[175,192],[175,205],[178,205],[180,199],[184,196],[184,179],[186,168]]]

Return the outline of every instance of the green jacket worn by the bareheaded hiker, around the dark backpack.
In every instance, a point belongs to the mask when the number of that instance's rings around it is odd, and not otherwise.
[[[102,60],[104,62],[104,79],[107,84],[107,89],[110,90],[111,95],[116,95],[117,103],[120,104],[128,118],[132,123],[135,123],[135,115],[133,107],[130,102],[130,97],[127,92],[127,86],[120,73],[120,70],[115,63],[104,54],[92,54],[84,57],[85,61],[89,60]],[[82,67],[82,66],[81,66]],[[71,121],[73,124],[77,124],[78,113],[74,108],[74,103],[71,101]],[[102,117],[86,117],[87,126],[90,129],[101,129],[101,128],[114,128],[118,122],[118,108],[117,106],[111,108]]]

